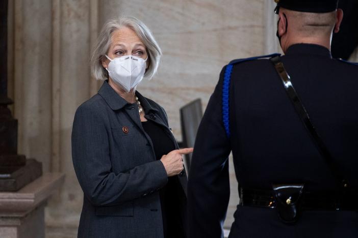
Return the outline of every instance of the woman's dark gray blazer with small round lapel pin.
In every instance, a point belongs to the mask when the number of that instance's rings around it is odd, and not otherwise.
[[[164,109],[137,92],[145,117],[167,129]],[[129,104],[104,82],[76,111],[72,160],[84,192],[78,237],[163,237],[159,197],[168,181],[145,133],[137,104]],[[178,175],[186,207],[187,175]],[[182,214],[186,224],[186,209]]]

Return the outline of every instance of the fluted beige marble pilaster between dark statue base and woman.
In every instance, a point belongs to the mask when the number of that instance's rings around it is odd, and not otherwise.
[[[15,0],[9,6],[9,90],[19,120],[19,151],[38,158],[45,172],[66,172],[67,183],[45,210],[46,224],[75,232],[83,194],[72,167],[70,133],[76,107],[91,95],[93,2]]]

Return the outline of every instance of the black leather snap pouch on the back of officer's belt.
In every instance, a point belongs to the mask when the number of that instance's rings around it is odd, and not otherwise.
[[[300,215],[304,184],[274,184],[272,189],[278,217],[284,223],[294,223]]]

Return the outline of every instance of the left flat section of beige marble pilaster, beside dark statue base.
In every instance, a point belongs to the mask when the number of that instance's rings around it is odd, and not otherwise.
[[[14,116],[19,151],[49,170],[51,151],[51,2],[14,3]]]

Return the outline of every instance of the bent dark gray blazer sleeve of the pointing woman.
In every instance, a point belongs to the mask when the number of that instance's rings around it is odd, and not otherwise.
[[[104,113],[81,105],[72,128],[72,162],[85,196],[96,206],[117,205],[162,188],[168,181],[158,160],[114,173]]]

